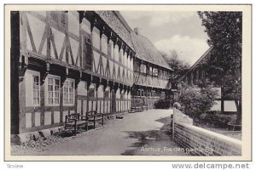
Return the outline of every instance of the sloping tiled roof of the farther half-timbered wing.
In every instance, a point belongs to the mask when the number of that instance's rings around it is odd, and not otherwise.
[[[172,70],[166,63],[166,59],[164,59],[159,50],[154,47],[154,44],[150,42],[147,37],[131,32],[131,41],[133,42],[137,58]]]

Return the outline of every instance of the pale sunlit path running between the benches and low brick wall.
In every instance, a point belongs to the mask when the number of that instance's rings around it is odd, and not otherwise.
[[[149,130],[160,130],[161,118],[171,116],[172,110],[149,110],[126,114],[123,119],[110,121],[107,125],[84,136],[55,145],[46,150],[44,155],[51,156],[117,156],[126,150],[137,149],[137,138],[131,138],[129,133]],[[90,131],[89,131],[90,132]]]

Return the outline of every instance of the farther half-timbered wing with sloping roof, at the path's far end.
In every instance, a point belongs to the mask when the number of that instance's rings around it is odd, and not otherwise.
[[[139,28],[131,32],[131,40],[136,52],[131,105],[143,103],[152,108],[158,99],[164,99],[169,93],[172,69]]]

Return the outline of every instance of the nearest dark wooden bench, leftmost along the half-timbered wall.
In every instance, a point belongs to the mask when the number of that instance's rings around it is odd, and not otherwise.
[[[73,133],[76,135],[78,128],[81,126],[84,126],[86,130],[88,129],[88,122],[86,120],[86,116],[82,116],[79,113],[73,113],[65,117],[65,130],[67,130],[68,128],[72,128]]]

